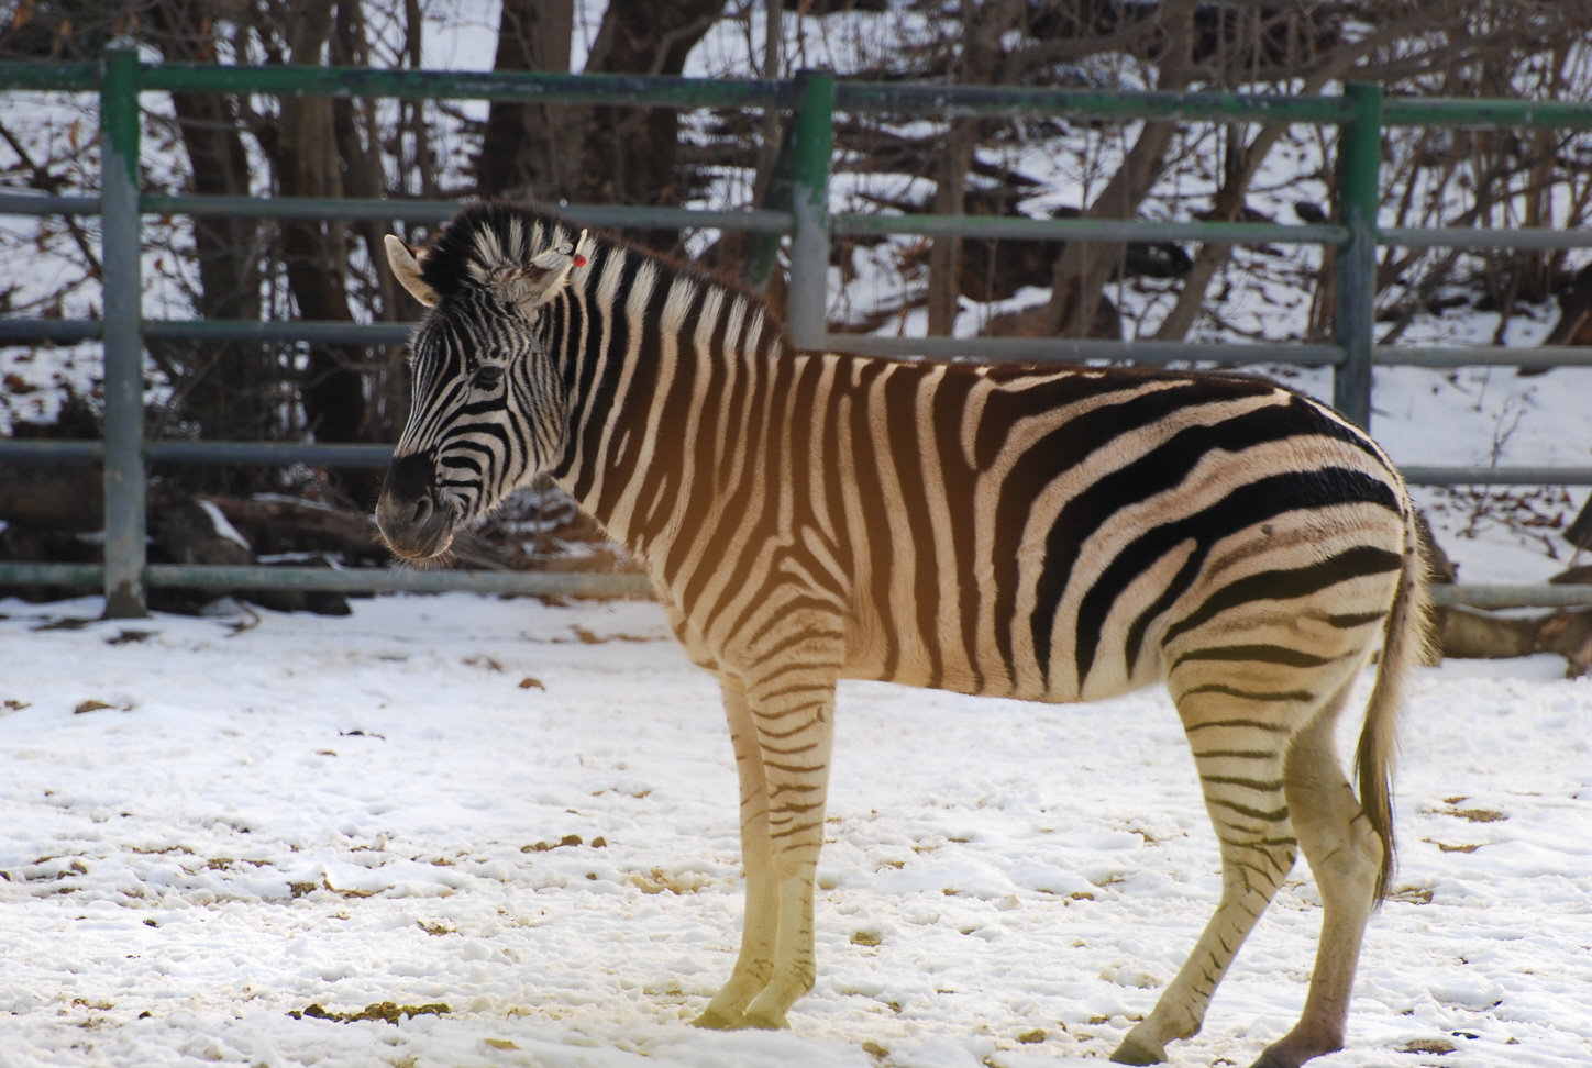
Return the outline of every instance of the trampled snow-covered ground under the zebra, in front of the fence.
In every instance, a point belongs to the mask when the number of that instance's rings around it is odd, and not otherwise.
[[[0,1068],[1100,1058],[1218,895],[1164,692],[845,684],[817,990],[790,1033],[702,1033],[742,912],[736,780],[654,605],[0,614]],[[1592,1062],[1592,684],[1560,672],[1422,672],[1399,893],[1323,1068]],[[1301,866],[1175,1063],[1285,1031],[1318,923]],[[382,1001],[447,1011],[290,1015]]]

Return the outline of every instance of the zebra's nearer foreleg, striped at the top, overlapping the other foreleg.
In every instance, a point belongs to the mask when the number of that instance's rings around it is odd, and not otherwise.
[[[747,1027],[788,1027],[785,1012],[817,977],[814,877],[834,743],[839,640],[786,648],[747,683],[769,796],[769,852],[777,898],[774,969],[743,1014]],[[750,906],[750,902],[748,902]],[[750,914],[748,914],[750,926]]]

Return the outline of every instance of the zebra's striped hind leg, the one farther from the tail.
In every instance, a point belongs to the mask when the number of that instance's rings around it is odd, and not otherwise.
[[[1221,902],[1156,1008],[1111,1054],[1113,1062],[1159,1063],[1169,1041],[1199,1033],[1216,985],[1293,867],[1296,840],[1283,799],[1283,759],[1293,724],[1309,713],[1301,707],[1305,700],[1313,704],[1302,691],[1261,692],[1224,683],[1194,684],[1176,699],[1221,844]]]

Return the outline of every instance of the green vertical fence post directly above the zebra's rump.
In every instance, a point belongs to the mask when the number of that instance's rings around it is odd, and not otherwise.
[[[1382,167],[1382,86],[1352,81],[1344,95],[1355,118],[1337,132],[1337,218],[1348,244],[1337,250],[1337,344],[1333,404],[1371,428],[1371,345],[1377,299],[1377,209]]]

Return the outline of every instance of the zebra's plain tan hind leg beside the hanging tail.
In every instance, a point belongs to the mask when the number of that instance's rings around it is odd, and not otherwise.
[[[1315,885],[1321,891],[1321,941],[1299,1023],[1266,1047],[1254,1068],[1297,1068],[1344,1047],[1360,944],[1374,907],[1382,840],[1344,777],[1334,724],[1347,686],[1294,740],[1283,788]]]

